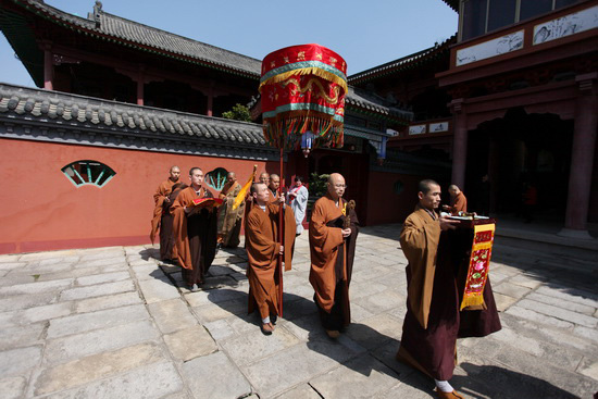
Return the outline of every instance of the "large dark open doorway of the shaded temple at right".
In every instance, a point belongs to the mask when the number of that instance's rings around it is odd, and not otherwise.
[[[525,219],[526,202],[535,201],[534,219],[562,223],[572,141],[572,120],[527,114],[522,108],[479,124],[469,134],[465,192],[470,210],[483,209],[488,196],[493,214]],[[484,175],[489,187],[482,183]]]

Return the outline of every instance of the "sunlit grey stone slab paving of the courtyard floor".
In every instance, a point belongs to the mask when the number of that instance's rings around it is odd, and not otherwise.
[[[152,246],[0,255],[0,398],[432,398],[434,383],[395,360],[399,232],[362,229],[337,340],[313,304],[307,234],[272,336],[247,314],[242,248],[220,251],[197,292]],[[598,254],[497,237],[490,279],[503,328],[459,340],[452,385],[465,398],[591,398]]]

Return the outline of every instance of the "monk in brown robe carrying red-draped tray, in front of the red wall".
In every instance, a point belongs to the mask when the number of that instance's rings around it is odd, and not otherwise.
[[[195,205],[198,198],[214,198],[203,187],[203,172],[199,167],[189,171],[191,185],[182,190],[171,213],[174,216],[173,229],[177,261],[183,267],[183,278],[195,291],[203,283],[203,277],[216,254],[217,208]]]

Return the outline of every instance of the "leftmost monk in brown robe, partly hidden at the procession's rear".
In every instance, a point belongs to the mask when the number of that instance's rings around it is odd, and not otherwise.
[[[158,186],[155,194],[153,195],[155,208],[153,210],[150,238],[153,242],[155,233],[158,232],[158,226],[160,226],[160,260],[165,263],[173,263],[176,259],[176,257],[172,253],[173,221],[170,214],[163,211],[164,207],[172,205],[169,195],[172,192],[172,187],[179,182],[180,169],[178,166],[172,166],[169,174],[169,178]],[[158,215],[160,215],[160,219],[157,221]]]

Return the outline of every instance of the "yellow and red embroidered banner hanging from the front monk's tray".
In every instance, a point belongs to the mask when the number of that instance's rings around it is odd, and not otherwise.
[[[495,234],[495,224],[479,224],[473,226],[473,245],[470,255],[465,288],[463,290],[463,300],[461,307],[484,304],[484,286],[488,278],[490,267],[490,255],[493,253],[493,242]]]

